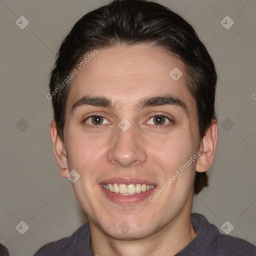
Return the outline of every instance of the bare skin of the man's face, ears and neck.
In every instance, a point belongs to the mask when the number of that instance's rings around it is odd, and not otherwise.
[[[150,47],[149,47],[150,46]],[[174,255],[196,235],[190,212],[195,170],[211,166],[217,142],[217,123],[212,120],[200,139],[195,100],[185,84],[181,60],[149,44],[99,48],[99,52],[74,76],[66,104],[64,141],[51,123],[55,158],[66,177],[75,169],[80,178],[72,183],[87,214],[91,248],[98,255]],[[170,70],[183,75],[174,80]],[[144,97],[171,94],[186,105],[149,106],[137,104]],[[82,96],[104,96],[114,108],[72,106]],[[92,114],[103,115],[101,125]],[[164,114],[163,124],[153,116]],[[118,123],[126,118],[131,127],[123,131]],[[154,201],[148,198],[130,204],[116,203],[105,196],[99,182],[111,177],[131,177],[151,181],[154,194],[180,165],[200,151],[200,156]],[[156,189],[156,190],[155,190]],[[150,194],[150,195],[152,195]],[[130,229],[118,226],[125,221]]]

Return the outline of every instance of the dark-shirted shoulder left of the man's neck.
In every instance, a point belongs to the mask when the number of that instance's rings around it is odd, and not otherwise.
[[[88,223],[80,226],[72,235],[42,246],[33,256],[69,256],[90,244]],[[89,247],[88,247],[89,248]]]

